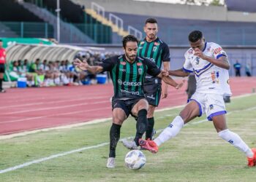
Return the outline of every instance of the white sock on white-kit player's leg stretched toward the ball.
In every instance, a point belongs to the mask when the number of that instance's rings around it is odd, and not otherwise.
[[[183,126],[184,121],[181,116],[176,116],[176,118],[173,119],[173,122],[170,123],[169,127],[166,127],[165,130],[163,130],[160,135],[154,139],[154,142],[157,143],[157,146],[160,146],[165,141],[175,137]]]

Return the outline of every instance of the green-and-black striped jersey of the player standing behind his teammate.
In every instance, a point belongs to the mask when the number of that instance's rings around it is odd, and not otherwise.
[[[146,41],[145,38],[138,44],[138,56],[151,60],[157,64],[158,68],[161,68],[162,62],[170,61],[170,50],[167,44],[158,37],[151,42]],[[161,84],[161,79],[146,75],[145,84]]]

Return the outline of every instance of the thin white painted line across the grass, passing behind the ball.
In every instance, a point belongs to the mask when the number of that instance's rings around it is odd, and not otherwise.
[[[242,109],[240,111],[249,111],[249,110],[252,110],[252,109],[255,109],[256,107],[252,107],[252,108],[246,108],[246,109]],[[238,110],[237,110],[238,111]],[[236,112],[236,111],[230,111],[229,114],[232,114],[233,112]],[[208,120],[206,119],[203,119],[201,121],[198,121],[198,122],[194,122],[193,124],[200,124],[201,122],[206,122]],[[187,125],[187,124],[186,124]],[[163,130],[163,129],[162,129]],[[158,132],[162,131],[162,130],[158,130]],[[129,138],[132,138],[132,137],[129,137]],[[122,138],[120,141],[124,140],[124,139],[127,139],[127,138]],[[68,154],[73,154],[73,153],[76,153],[76,152],[79,152],[79,151],[85,151],[85,150],[88,150],[88,149],[95,149],[95,148],[99,148],[101,146],[106,146],[108,145],[109,142],[107,143],[100,143],[98,145],[95,145],[95,146],[86,146],[86,147],[83,147],[83,148],[80,148],[80,149],[75,149],[75,150],[72,150],[72,151],[66,151],[66,152],[63,152],[63,153],[59,153],[59,154],[54,154],[54,155],[51,155],[49,157],[44,157],[44,158],[41,158],[41,159],[36,159],[36,160],[33,160],[31,162],[26,162],[26,163],[23,163],[21,165],[16,165],[14,167],[9,167],[7,169],[4,169],[4,170],[0,170],[0,174],[1,173],[7,173],[7,172],[10,172],[10,171],[13,171],[13,170],[18,170],[20,168],[23,168],[23,167],[27,167],[29,165],[33,165],[33,164],[37,164],[39,162],[45,162],[47,160],[50,160],[50,159],[55,159],[57,157],[62,157],[62,156],[66,156]]]

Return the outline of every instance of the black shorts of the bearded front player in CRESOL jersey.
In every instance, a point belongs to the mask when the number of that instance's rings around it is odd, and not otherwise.
[[[138,103],[138,101],[140,101],[141,99],[144,99],[144,98],[134,98],[134,99],[128,99],[128,100],[118,100],[116,98],[112,98],[112,111],[114,108],[121,108],[124,110],[125,114],[128,117],[129,114],[132,115],[133,106],[135,106],[135,104]]]

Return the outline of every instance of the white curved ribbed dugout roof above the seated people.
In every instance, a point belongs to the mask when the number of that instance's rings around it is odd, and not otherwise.
[[[7,47],[7,61],[13,60],[69,60],[72,62],[79,52],[88,52],[81,47],[70,45],[14,44]]]

